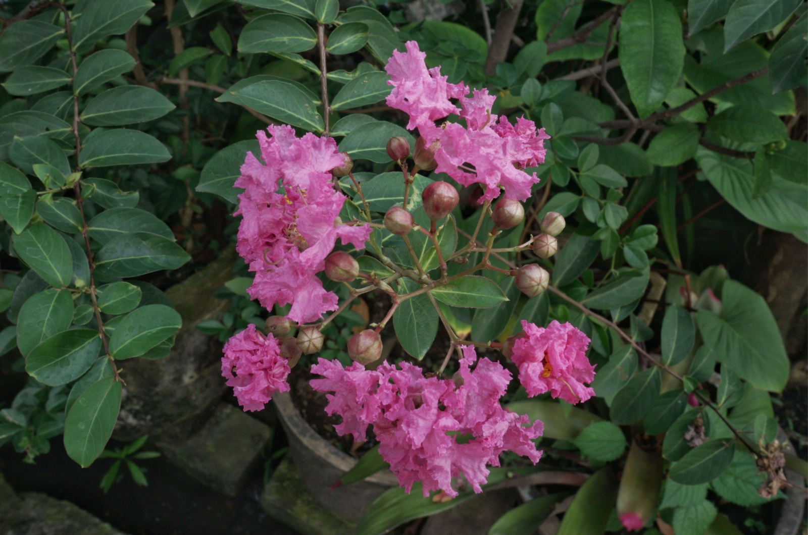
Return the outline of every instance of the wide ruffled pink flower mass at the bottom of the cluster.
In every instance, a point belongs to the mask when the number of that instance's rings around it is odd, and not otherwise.
[[[482,491],[499,455],[513,451],[534,463],[541,458],[532,440],[541,436],[542,423],[529,425],[526,415],[505,411],[499,399],[511,373],[488,359],[477,361],[472,346],[463,348],[461,385],[450,379],[424,377],[418,366],[399,368],[382,363],[366,370],[358,363],[344,368],[335,360],[320,359],[312,373],[325,378],[311,381],[326,392],[329,415],[341,415],[335,426],[340,435],[366,440],[368,426],[379,440],[379,453],[409,492],[422,482],[423,495],[442,489],[457,496],[452,479],[465,476],[475,492]],[[451,433],[451,434],[450,434]],[[457,436],[468,440],[458,443]]]

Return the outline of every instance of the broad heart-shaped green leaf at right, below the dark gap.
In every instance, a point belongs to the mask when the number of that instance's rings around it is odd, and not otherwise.
[[[751,385],[780,392],[788,381],[789,359],[766,301],[734,280],[724,283],[722,301],[720,318],[707,310],[696,315],[705,345]]]

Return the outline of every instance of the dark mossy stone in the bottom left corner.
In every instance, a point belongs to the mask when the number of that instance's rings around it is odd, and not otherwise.
[[[70,502],[16,495],[0,475],[0,535],[124,535]]]

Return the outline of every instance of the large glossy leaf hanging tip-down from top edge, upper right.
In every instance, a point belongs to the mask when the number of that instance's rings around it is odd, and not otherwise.
[[[675,86],[684,65],[679,13],[667,0],[625,6],[618,47],[620,68],[640,118],[650,116]]]

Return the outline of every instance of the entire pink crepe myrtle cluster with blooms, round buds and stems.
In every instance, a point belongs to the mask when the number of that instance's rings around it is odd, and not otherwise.
[[[417,129],[419,137],[412,152],[404,137],[393,137],[387,144],[389,158],[402,169],[404,201],[383,217],[372,215],[361,184],[351,174],[351,158],[339,152],[332,138],[313,133],[297,137],[292,128],[274,125],[267,128],[268,137],[264,132],[257,134],[260,159],[246,154],[235,183],[244,189],[235,213],[241,217],[237,250],[255,272],[255,281],[247,290],[250,297],[267,310],[275,305],[291,307],[285,316],[267,319],[263,326],[266,335],[255,325],[234,335],[225,344],[221,369],[244,410],[258,411],[273,394],[289,390],[288,374],[302,354],[320,351],[323,326],[362,293],[374,289],[388,293],[392,306],[385,318],[347,342],[353,364],[346,368],[337,360],[319,358],[311,371],[322,378],[313,379],[311,386],[326,394],[326,412],[342,417],[343,422],[335,426],[340,435],[364,441],[372,428],[379,453],[408,492],[415,482],[421,482],[424,495],[440,489],[455,496],[457,485],[452,483],[457,478],[465,478],[480,492],[489,474],[487,466],[499,465],[503,452],[524,455],[534,463],[541,457],[533,440],[541,436],[542,423],[531,424],[527,416],[503,409],[500,400],[511,382],[511,372],[497,361],[478,359],[475,346],[494,348],[510,359],[528,396],[546,393],[570,403],[584,402],[594,395],[587,383],[595,373],[586,356],[587,336],[556,321],[546,327],[523,321],[522,331],[505,343],[469,342],[447,326],[452,343],[436,373],[424,373],[406,361],[377,362],[382,354],[382,329],[398,305],[415,295],[489,269],[514,276],[516,287],[528,297],[544,292],[549,273],[539,263],[507,270],[495,267],[490,255],[525,251],[537,259],[548,259],[558,251],[556,236],[565,226],[561,214],[550,212],[541,219],[541,234],[520,246],[492,248],[499,233],[524,221],[521,201],[531,196],[532,187],[539,182],[536,174],[524,170],[544,162],[543,141],[548,136],[530,120],[520,118],[514,125],[505,116],[493,115],[494,96],[485,89],[469,96],[468,87],[448,83],[440,68],[427,70],[424,57],[418,45],[409,42],[406,52],[394,52],[386,66],[393,86],[387,103],[408,114],[407,128]],[[450,115],[459,116],[465,125],[436,124]],[[410,194],[415,195],[410,189],[419,170],[446,173],[461,186],[480,184],[480,221],[490,217],[493,223],[485,247],[476,241],[478,225],[465,247],[442,257],[437,238],[444,227],[439,223],[452,217],[459,202],[458,189],[443,181],[424,188],[423,210],[431,221],[427,230],[403,208],[410,205]],[[338,182],[342,177],[351,180],[362,200],[364,221],[339,217],[347,200],[343,184]],[[389,231],[408,246],[410,233],[425,234],[436,246],[440,276],[431,278],[415,255],[417,271],[393,263],[374,242],[373,229]],[[335,251],[338,240],[343,248]],[[366,244],[393,276],[382,280],[362,272],[353,251]],[[469,255],[476,252],[484,253],[482,261],[466,268]],[[448,262],[465,269],[448,276]],[[335,293],[324,289],[318,278],[321,272],[350,287],[350,297],[341,305]],[[402,277],[414,280],[420,289],[396,293],[390,284]],[[326,313],[331,314],[323,318]],[[458,371],[451,378],[444,377],[455,352]]]

